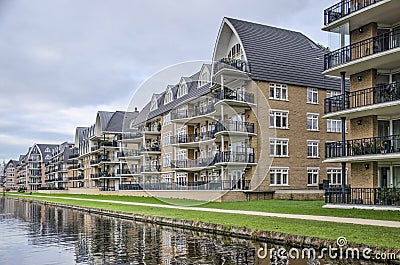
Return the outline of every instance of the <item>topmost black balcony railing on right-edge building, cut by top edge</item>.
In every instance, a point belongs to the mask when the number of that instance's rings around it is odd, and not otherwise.
[[[358,10],[378,3],[382,0],[344,0],[324,11],[324,25],[327,26],[336,20],[346,17]]]

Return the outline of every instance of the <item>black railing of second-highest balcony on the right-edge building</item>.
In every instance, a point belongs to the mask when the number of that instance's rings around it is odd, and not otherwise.
[[[400,31],[391,31],[325,54],[325,70],[400,47]]]

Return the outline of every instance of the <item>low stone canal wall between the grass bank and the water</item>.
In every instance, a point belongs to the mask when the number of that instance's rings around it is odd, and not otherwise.
[[[286,245],[289,247],[296,247],[296,248],[314,248],[315,250],[321,250],[323,248],[329,247],[339,247],[337,245],[336,240],[329,240],[329,239],[322,239],[310,236],[299,236],[299,235],[291,235],[287,233],[281,232],[274,232],[274,231],[261,231],[255,229],[249,229],[245,227],[234,227],[234,226],[226,226],[221,224],[214,224],[214,223],[206,223],[201,221],[192,221],[192,220],[182,220],[170,217],[159,217],[159,216],[152,216],[152,215],[144,215],[144,214],[136,214],[136,213],[126,213],[121,211],[111,211],[111,210],[104,210],[104,209],[94,209],[89,207],[82,207],[82,206],[74,206],[74,205],[67,205],[61,203],[54,203],[54,202],[46,202],[34,199],[24,199],[24,198],[15,198],[15,200],[22,200],[27,202],[33,202],[42,204],[42,205],[50,205],[55,207],[62,207],[70,210],[82,211],[87,212],[90,214],[99,214],[108,217],[114,218],[121,218],[130,221],[137,221],[137,222],[146,222],[152,223],[157,225],[169,226],[169,227],[176,227],[182,229],[189,229],[199,232],[206,232],[210,234],[222,235],[222,236],[230,236],[230,237],[237,237],[242,239],[248,240],[255,240],[259,242],[266,242],[266,243],[273,243],[278,245]],[[375,255],[376,253],[397,253],[398,249],[388,249],[388,248],[381,248],[381,247],[373,247],[361,244],[354,244],[348,243],[346,248],[358,248],[360,252],[362,249],[369,248],[371,249],[371,256]],[[360,255],[362,258],[362,255]],[[400,264],[400,263],[396,263]]]

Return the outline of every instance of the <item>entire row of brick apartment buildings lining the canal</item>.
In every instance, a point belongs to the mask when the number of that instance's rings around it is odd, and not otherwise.
[[[165,84],[140,111],[99,111],[74,143],[32,146],[6,165],[10,185],[264,196],[399,187],[397,5],[325,10],[323,30],[343,46],[335,51],[224,18],[212,63]]]

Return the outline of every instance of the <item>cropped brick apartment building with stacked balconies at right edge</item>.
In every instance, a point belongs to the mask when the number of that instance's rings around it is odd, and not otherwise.
[[[351,168],[340,202],[400,205],[399,10],[397,0],[346,0],[324,12],[323,30],[341,47],[325,55],[323,73],[350,79],[350,91],[325,100],[324,118],[351,124],[326,144],[326,162]]]

